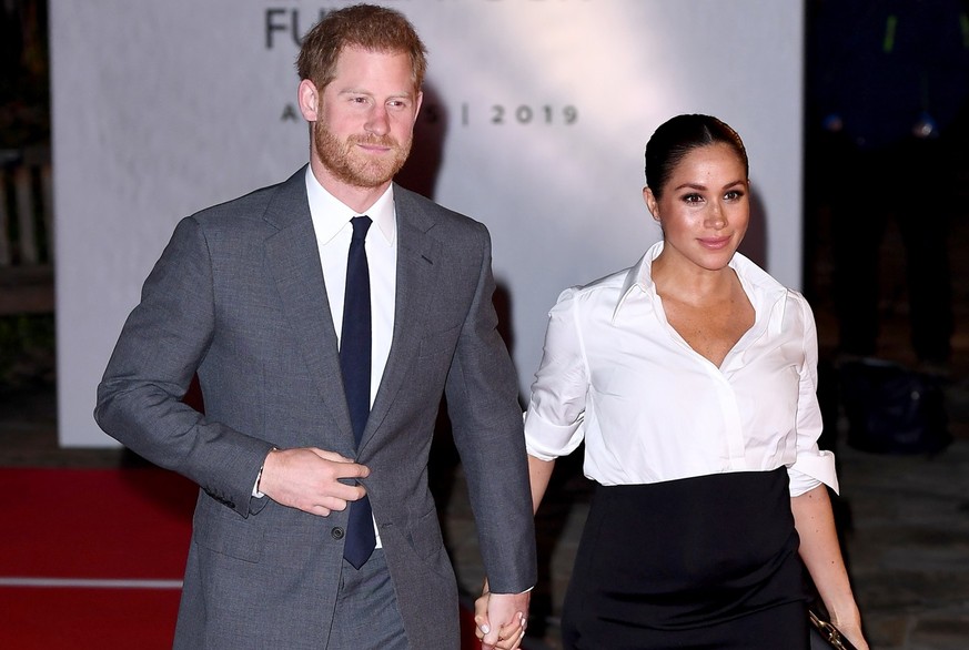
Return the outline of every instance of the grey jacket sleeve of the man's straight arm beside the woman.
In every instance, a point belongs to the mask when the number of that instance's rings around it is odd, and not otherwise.
[[[492,303],[491,238],[484,231],[480,278],[447,377],[447,408],[489,588],[519,593],[537,580],[532,494],[518,383]]]

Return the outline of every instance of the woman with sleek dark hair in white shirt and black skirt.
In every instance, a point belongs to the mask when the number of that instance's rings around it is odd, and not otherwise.
[[[808,648],[806,566],[867,648],[818,449],[805,298],[737,253],[748,162],[716,118],[646,146],[663,231],[638,264],[563,292],[525,420],[533,507],[585,441],[596,492],[565,598],[566,648]],[[828,487],[826,487],[828,486]]]

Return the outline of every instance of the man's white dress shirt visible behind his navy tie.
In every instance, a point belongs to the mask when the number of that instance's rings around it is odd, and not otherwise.
[[[350,220],[361,216],[327,192],[313,171],[306,167],[306,195],[310,199],[310,215],[320,248],[320,263],[323,266],[323,282],[326,283],[326,297],[336,339],[343,332],[343,301],[346,291],[346,256],[353,226]],[[366,263],[370,271],[370,304],[372,317],[372,360],[370,382],[370,403],[376,397],[384,367],[391,354],[394,334],[394,302],[397,288],[397,225],[394,212],[393,185],[377,199],[367,211],[373,221],[366,232]],[[376,525],[374,525],[376,530]],[[380,531],[376,531],[376,546],[381,547]]]

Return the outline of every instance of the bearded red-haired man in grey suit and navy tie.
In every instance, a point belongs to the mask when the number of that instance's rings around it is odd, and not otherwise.
[[[179,223],[99,386],[108,434],[201,487],[178,648],[457,648],[427,487],[442,395],[502,623],[485,647],[521,642],[535,541],[489,237],[393,183],[424,52],[385,8],[311,30],[309,166]]]

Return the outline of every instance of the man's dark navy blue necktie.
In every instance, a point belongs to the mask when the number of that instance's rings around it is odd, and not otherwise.
[[[366,264],[366,231],[369,216],[355,216],[353,238],[346,257],[346,292],[343,299],[343,328],[340,334],[340,369],[343,389],[350,407],[350,423],[357,447],[370,416],[370,367],[372,353],[370,313],[370,268]],[[370,499],[363,497],[350,504],[343,557],[361,568],[376,546]]]

